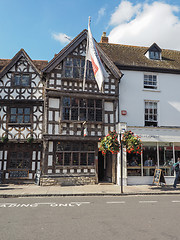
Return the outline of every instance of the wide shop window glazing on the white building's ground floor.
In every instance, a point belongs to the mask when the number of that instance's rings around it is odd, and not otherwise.
[[[128,176],[154,176],[156,168],[164,176],[174,176],[172,165],[180,157],[180,146],[173,143],[143,143],[142,155],[127,154]]]

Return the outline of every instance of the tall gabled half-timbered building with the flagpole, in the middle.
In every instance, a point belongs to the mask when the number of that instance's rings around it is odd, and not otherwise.
[[[116,158],[98,151],[99,138],[116,129],[121,72],[98,47],[109,75],[100,92],[91,62],[83,75],[87,31],[82,31],[43,69],[44,153],[41,184],[116,182]]]

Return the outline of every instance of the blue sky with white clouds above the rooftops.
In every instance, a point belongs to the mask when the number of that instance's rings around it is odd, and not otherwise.
[[[0,0],[0,58],[21,48],[32,59],[51,60],[87,28],[96,41],[180,50],[180,2],[120,0]]]

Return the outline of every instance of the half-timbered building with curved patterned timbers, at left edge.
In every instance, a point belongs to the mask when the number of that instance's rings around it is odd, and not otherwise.
[[[21,49],[0,59],[0,170],[5,182],[34,179],[42,160],[43,82],[46,61]]]

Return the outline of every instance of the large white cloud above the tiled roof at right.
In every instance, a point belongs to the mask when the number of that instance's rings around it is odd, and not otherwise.
[[[177,6],[163,2],[132,5],[122,1],[110,19],[114,28],[109,42],[150,46],[156,42],[161,48],[180,50],[180,18]]]

